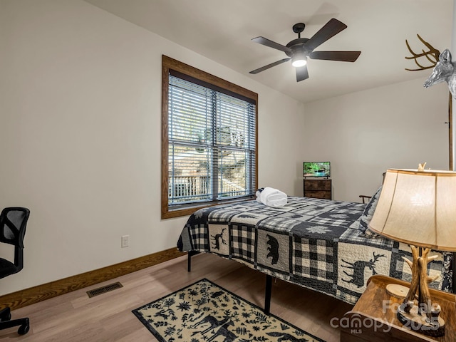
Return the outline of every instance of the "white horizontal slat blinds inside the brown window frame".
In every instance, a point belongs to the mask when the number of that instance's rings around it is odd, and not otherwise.
[[[255,104],[169,74],[168,205],[254,195]]]

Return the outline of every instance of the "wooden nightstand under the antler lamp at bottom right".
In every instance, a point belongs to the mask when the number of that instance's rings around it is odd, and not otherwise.
[[[352,311],[341,321],[341,342],[422,342],[456,341],[456,296],[430,289],[432,301],[440,304],[440,316],[445,320],[445,336],[430,337],[405,328],[396,317],[396,309],[402,299],[390,296],[385,288],[388,284],[408,286],[409,283],[389,276],[375,275],[368,281],[366,291]],[[344,321],[345,320],[345,321]]]

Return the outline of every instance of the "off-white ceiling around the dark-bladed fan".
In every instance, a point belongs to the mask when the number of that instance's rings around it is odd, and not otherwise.
[[[185,46],[303,103],[423,78],[432,70],[405,71],[405,59],[425,48],[451,48],[453,0],[86,0],[116,16]],[[284,52],[251,41],[264,36],[286,45],[291,27],[306,24],[311,38],[336,18],[348,26],[315,51],[361,51],[354,63],[309,60],[309,79],[296,82],[291,62],[252,75]],[[423,64],[429,63],[421,60]]]

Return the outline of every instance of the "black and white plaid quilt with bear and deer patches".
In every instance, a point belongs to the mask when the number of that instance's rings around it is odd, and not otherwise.
[[[256,201],[199,209],[185,224],[177,247],[210,252],[308,289],[355,304],[373,274],[410,281],[410,247],[383,237],[363,237],[366,204],[288,197],[284,207]],[[451,253],[433,252],[430,286],[449,291]]]

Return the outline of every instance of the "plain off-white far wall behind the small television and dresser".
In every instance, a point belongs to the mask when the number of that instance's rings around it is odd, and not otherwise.
[[[404,71],[406,72],[406,71]],[[305,105],[303,160],[330,160],[333,199],[373,195],[388,168],[448,170],[448,87],[413,81]]]

